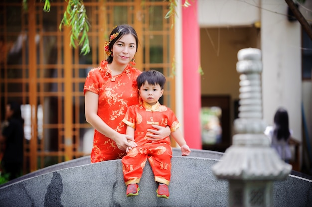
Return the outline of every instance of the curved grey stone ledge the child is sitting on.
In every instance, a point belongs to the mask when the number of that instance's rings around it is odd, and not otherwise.
[[[181,157],[179,150],[174,151],[178,156],[171,160],[169,199],[156,197],[157,185],[148,162],[139,195],[126,197],[121,160],[112,160],[58,169],[0,186],[0,207],[228,206],[228,182],[216,179],[211,171],[219,159],[194,157],[196,150],[187,157]],[[198,150],[198,153],[207,156],[210,152]],[[222,153],[218,155],[220,158]],[[275,207],[309,207],[311,195],[312,181],[297,176],[290,175],[274,185]]]

